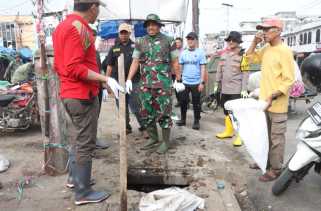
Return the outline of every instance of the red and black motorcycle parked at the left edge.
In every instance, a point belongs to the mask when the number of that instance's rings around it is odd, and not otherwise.
[[[26,130],[39,122],[32,83],[18,84],[0,93],[0,131]]]

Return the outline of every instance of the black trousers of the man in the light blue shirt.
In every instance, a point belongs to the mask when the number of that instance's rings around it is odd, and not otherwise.
[[[181,115],[182,117],[186,117],[186,112],[189,103],[189,94],[192,93],[192,103],[194,110],[194,119],[201,119],[201,92],[198,91],[197,85],[185,85],[185,90],[179,93],[179,99],[181,103]]]

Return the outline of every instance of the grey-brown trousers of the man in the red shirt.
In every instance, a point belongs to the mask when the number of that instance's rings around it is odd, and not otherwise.
[[[95,146],[99,113],[98,98],[92,100],[63,99],[69,116],[67,129],[71,144],[71,155],[75,155],[76,163],[91,162]]]

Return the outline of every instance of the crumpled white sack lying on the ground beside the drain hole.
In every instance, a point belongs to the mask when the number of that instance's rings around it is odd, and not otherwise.
[[[205,200],[180,188],[151,192],[139,203],[140,211],[194,211],[204,209]]]

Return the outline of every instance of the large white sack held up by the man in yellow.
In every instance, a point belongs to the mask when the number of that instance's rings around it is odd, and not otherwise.
[[[233,127],[243,140],[247,151],[263,173],[266,171],[269,138],[265,108],[267,103],[252,98],[230,100],[224,104],[231,111]]]

